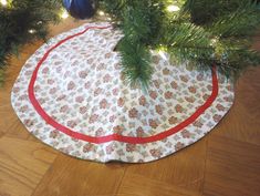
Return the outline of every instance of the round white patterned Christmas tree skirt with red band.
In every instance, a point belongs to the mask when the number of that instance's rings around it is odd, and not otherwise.
[[[128,86],[108,23],[87,23],[42,45],[12,90],[24,126],[65,154],[97,162],[150,162],[204,137],[233,102],[230,81],[153,52],[148,91]]]

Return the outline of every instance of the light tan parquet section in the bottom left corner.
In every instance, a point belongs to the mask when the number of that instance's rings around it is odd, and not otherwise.
[[[30,196],[56,154],[42,144],[0,138],[0,195]]]

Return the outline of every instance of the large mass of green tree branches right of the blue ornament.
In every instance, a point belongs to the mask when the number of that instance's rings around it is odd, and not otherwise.
[[[251,38],[260,24],[260,7],[248,0],[100,0],[125,37],[118,44],[131,84],[148,86],[150,50],[167,52],[177,63],[236,78],[260,58]]]

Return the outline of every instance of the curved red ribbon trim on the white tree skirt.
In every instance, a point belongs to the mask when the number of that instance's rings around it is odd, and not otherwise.
[[[198,110],[191,116],[189,116],[187,120],[179,123],[177,126],[175,126],[173,128],[169,128],[165,132],[162,132],[159,134],[148,136],[148,137],[133,137],[133,136],[123,136],[123,135],[118,135],[118,134],[112,134],[112,135],[107,135],[107,136],[95,137],[95,136],[89,136],[89,135],[84,135],[82,133],[77,133],[75,131],[70,130],[69,127],[65,127],[62,124],[59,124],[55,120],[53,120],[50,115],[46,114],[46,112],[42,109],[42,106],[40,105],[39,101],[35,97],[35,94],[34,94],[34,83],[37,81],[37,76],[38,76],[38,72],[39,72],[40,66],[42,65],[42,63],[46,60],[49,54],[54,49],[56,49],[58,47],[60,47],[61,44],[63,44],[67,40],[71,40],[75,37],[84,34],[90,29],[107,29],[107,28],[110,28],[110,27],[89,27],[82,32],[70,35],[70,37],[61,40],[59,43],[56,43],[51,49],[49,49],[46,51],[46,53],[43,55],[43,58],[39,61],[35,70],[33,71],[33,74],[32,74],[32,78],[31,78],[31,81],[30,81],[30,84],[29,84],[28,92],[29,92],[29,99],[30,99],[32,105],[37,110],[38,114],[48,124],[52,125],[58,131],[63,132],[64,134],[66,134],[71,137],[82,140],[82,141],[85,141],[85,142],[90,142],[90,143],[101,144],[101,143],[112,142],[112,141],[118,141],[118,142],[125,142],[125,143],[132,143],[132,144],[145,144],[145,143],[156,142],[156,141],[162,141],[162,140],[164,140],[164,138],[166,138],[166,137],[168,137],[168,136],[170,136],[175,133],[178,133],[179,131],[181,131],[186,126],[194,123],[214,103],[214,101],[216,100],[216,97],[218,95],[218,89],[219,89],[216,68],[212,69],[212,92],[211,92],[211,95],[209,96],[209,99],[204,103],[204,105],[198,107]]]

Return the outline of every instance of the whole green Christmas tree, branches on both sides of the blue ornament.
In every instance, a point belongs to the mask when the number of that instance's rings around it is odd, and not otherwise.
[[[170,61],[217,70],[236,79],[260,64],[251,38],[260,24],[260,7],[249,0],[96,0],[96,8],[124,33],[116,47],[131,85],[149,86],[150,51]],[[18,47],[45,38],[46,24],[59,19],[61,1],[13,0],[0,8],[0,66]]]

